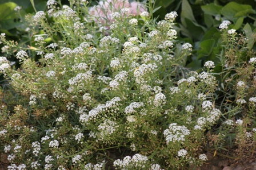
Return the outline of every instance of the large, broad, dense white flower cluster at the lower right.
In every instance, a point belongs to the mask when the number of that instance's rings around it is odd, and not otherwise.
[[[169,128],[163,131],[166,143],[170,142],[183,142],[185,141],[185,136],[189,135],[190,131],[185,126],[178,126],[177,123],[171,123]]]

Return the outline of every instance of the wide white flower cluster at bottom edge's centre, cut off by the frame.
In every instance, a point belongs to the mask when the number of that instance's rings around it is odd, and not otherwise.
[[[127,168],[145,168],[148,159],[147,156],[141,154],[135,154],[132,158],[126,156],[123,160],[117,159],[114,161],[114,167],[119,167],[122,169]]]

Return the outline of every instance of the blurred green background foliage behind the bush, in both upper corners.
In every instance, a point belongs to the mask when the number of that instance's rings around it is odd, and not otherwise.
[[[47,0],[35,0],[35,9],[45,11],[46,2]],[[69,0],[61,2],[69,4]],[[97,1],[91,1],[91,5],[96,4]],[[14,11],[16,6],[22,7],[19,16]],[[154,17],[158,20],[164,19],[165,15],[171,11],[177,11],[178,18],[175,20],[174,28],[178,32],[178,40],[180,43],[193,44],[193,53],[184,60],[183,67],[201,71],[207,60],[218,63],[216,56],[222,49],[221,33],[218,27],[223,20],[230,20],[233,23],[229,26],[230,29],[245,32],[250,49],[255,49],[256,2],[254,0],[155,0],[155,9],[157,8],[159,9],[155,11]],[[1,0],[0,33],[4,32],[6,39],[19,42],[23,46],[33,45],[31,44],[33,35],[27,35],[25,31],[27,26],[20,21],[24,20],[27,14],[34,13],[30,0]],[[38,30],[38,34],[43,32]],[[2,44],[0,48],[3,48]],[[2,50],[0,56],[6,56],[16,68],[20,67],[15,56],[8,56]],[[37,53],[30,53],[30,56],[37,61]],[[218,72],[218,64],[216,65],[215,71]],[[0,77],[0,81],[2,80],[3,76]]]

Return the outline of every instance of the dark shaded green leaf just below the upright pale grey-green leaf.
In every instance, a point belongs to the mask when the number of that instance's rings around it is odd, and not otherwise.
[[[187,18],[185,18],[185,23],[188,28],[187,30],[189,31],[189,34],[192,36],[192,38],[196,40],[201,40],[201,38],[205,34],[206,29]]]

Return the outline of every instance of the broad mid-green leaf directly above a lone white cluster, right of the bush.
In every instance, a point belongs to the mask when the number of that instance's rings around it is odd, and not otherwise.
[[[215,40],[209,39],[205,40],[200,44],[201,49],[197,51],[198,59],[201,59],[202,57],[209,56],[211,52],[213,51],[213,47],[215,44]]]

